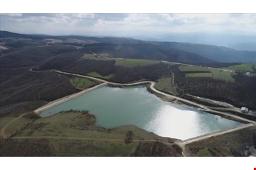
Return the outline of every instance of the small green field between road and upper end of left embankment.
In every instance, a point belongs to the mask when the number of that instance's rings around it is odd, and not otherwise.
[[[80,90],[91,88],[94,85],[97,85],[97,82],[91,81],[90,79],[80,78],[80,77],[73,77],[70,79],[71,84]]]

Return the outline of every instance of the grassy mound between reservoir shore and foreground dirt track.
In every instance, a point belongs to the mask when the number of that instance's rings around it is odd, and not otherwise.
[[[18,135],[50,135],[122,140],[125,132],[129,129],[134,131],[134,139],[153,139],[158,137],[157,135],[153,135],[134,126],[123,126],[108,130],[103,127],[97,127],[95,122],[95,117],[87,113],[59,113],[46,118],[38,118],[30,127],[27,127]]]

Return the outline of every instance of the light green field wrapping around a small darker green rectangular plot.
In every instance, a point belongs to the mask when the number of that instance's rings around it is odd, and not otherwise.
[[[231,71],[223,71],[221,69],[215,69],[215,68],[205,68],[201,66],[196,65],[180,65],[179,66],[180,71],[210,71],[211,76],[213,79],[221,79],[225,80],[226,82],[235,82],[235,79],[232,77]],[[196,75],[198,74],[198,75]],[[193,73],[192,75],[186,75],[187,77],[210,77],[210,74],[206,73]]]

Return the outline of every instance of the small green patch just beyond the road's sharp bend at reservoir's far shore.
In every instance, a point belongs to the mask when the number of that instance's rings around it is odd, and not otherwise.
[[[167,77],[167,78],[162,78],[159,79],[156,82],[155,88],[158,89],[159,91],[164,91],[173,95],[176,95],[176,88],[173,87],[173,83],[172,83],[172,78],[171,77]]]

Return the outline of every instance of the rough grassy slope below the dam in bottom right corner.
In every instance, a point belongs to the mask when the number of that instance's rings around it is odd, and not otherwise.
[[[229,132],[186,145],[189,156],[244,156],[246,146],[253,146],[256,127]]]

